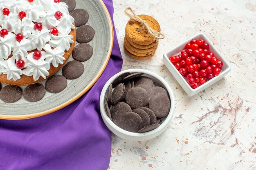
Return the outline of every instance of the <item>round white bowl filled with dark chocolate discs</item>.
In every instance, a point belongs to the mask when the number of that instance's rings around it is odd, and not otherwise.
[[[174,112],[174,95],[159,75],[129,69],[117,73],[105,84],[100,96],[101,117],[117,136],[144,141],[160,135]]]

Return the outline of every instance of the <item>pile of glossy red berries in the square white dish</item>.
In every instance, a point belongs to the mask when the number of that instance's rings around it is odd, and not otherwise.
[[[203,39],[191,40],[180,55],[169,59],[192,88],[204,84],[220,74],[223,62],[209,52],[209,44]]]

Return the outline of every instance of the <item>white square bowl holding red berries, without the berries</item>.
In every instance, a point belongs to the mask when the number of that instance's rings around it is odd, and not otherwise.
[[[175,66],[169,60],[169,58],[171,56],[180,54],[180,52],[185,48],[185,45],[187,43],[189,43],[192,39],[196,39],[196,40],[204,39],[205,42],[207,42],[210,46],[209,51],[213,52],[215,54],[215,57],[218,58],[218,60],[221,60],[223,62],[222,70],[219,75],[213,77],[212,79],[210,79],[209,81],[205,82],[204,84],[198,86],[198,88],[195,88],[195,89],[193,89],[193,88],[191,88],[191,86],[189,86],[189,84],[186,82],[185,78],[180,74],[180,72],[177,70],[177,68],[175,68]],[[172,75],[175,77],[175,79],[179,82],[180,86],[182,86],[184,91],[189,96],[193,96],[193,95],[199,93],[200,91],[203,91],[205,88],[211,86],[212,84],[218,82],[220,79],[225,77],[227,75],[227,73],[231,70],[229,63],[225,60],[225,58],[220,54],[220,52],[215,48],[215,46],[213,46],[211,41],[203,33],[199,33],[199,34],[189,38],[188,40],[182,42],[182,44],[180,44],[180,45],[176,46],[175,48],[171,49],[170,51],[167,51],[166,53],[164,53],[163,60],[164,60],[164,64],[168,68],[168,70],[172,73]]]

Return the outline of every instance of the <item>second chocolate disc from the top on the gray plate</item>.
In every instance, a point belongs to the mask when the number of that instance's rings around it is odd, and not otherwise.
[[[75,9],[70,13],[70,15],[74,18],[76,26],[86,24],[89,19],[89,14],[84,9]]]

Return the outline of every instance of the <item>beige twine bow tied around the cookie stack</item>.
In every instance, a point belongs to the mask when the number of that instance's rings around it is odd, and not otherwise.
[[[132,14],[128,13],[128,11],[131,11]],[[152,35],[154,38],[156,38],[157,40],[159,40],[159,39],[164,39],[164,34],[163,34],[163,33],[153,30],[153,29],[148,25],[147,21],[146,21],[146,20],[142,20],[141,18],[139,18],[139,16],[136,15],[136,13],[135,13],[130,7],[126,8],[125,11],[124,11],[124,13],[125,13],[126,15],[128,15],[128,17],[130,17],[132,20],[135,20],[135,21],[141,23],[142,29],[146,29],[146,31],[148,31],[148,33],[149,33],[150,35]]]

